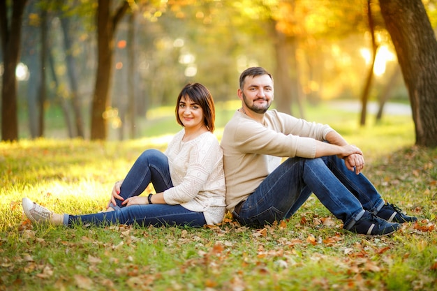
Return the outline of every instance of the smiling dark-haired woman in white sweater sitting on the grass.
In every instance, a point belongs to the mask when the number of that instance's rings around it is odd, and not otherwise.
[[[213,135],[215,109],[202,84],[186,84],[177,98],[176,119],[183,128],[165,153],[144,151],[123,181],[117,181],[105,212],[54,214],[28,198],[22,207],[33,223],[73,225],[188,225],[221,223],[225,215],[223,153]],[[140,196],[149,183],[156,194]]]

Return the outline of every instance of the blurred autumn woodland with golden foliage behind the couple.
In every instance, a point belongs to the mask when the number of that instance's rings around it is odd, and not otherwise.
[[[186,82],[205,84],[216,103],[231,106],[249,66],[273,74],[276,108],[296,117],[323,100],[360,100],[364,125],[369,100],[380,103],[379,117],[388,98],[410,102],[380,9],[390,1],[1,0],[3,82],[18,2],[17,105],[8,107],[25,124],[17,138],[45,137],[56,123],[59,138],[142,137],[142,124],[173,108]],[[422,1],[432,29],[436,2]],[[6,89],[2,140],[16,140]]]

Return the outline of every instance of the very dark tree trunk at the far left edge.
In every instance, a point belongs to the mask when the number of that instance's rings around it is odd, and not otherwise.
[[[18,140],[17,78],[15,68],[20,59],[22,16],[27,0],[12,1],[13,11],[8,27],[6,0],[0,0],[0,33],[3,50],[3,83],[1,86],[1,140]]]

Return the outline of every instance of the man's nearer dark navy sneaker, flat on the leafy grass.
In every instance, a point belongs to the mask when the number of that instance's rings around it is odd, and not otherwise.
[[[349,231],[366,235],[387,235],[399,230],[399,223],[389,223],[366,211]]]

